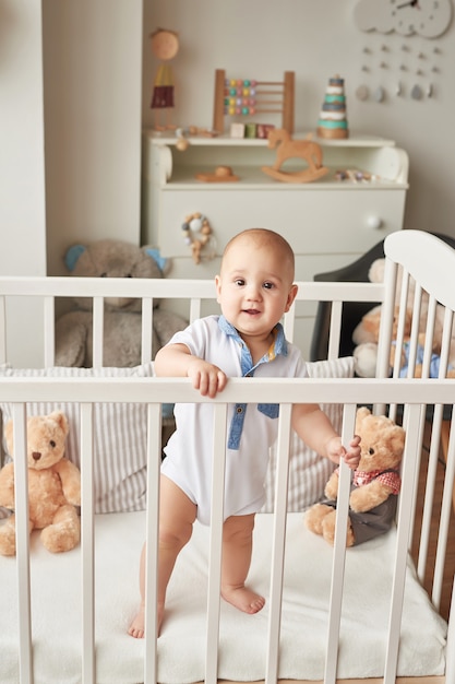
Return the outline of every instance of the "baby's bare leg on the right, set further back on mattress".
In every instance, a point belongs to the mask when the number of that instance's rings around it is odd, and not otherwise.
[[[243,613],[258,613],[265,599],[244,586],[251,564],[254,514],[231,516],[223,527],[221,595]]]

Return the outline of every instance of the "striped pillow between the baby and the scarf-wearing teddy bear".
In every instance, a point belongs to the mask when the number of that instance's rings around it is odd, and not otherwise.
[[[354,356],[345,356],[333,361],[308,363],[310,378],[352,378]],[[336,431],[342,429],[343,406],[340,404],[322,404]],[[307,447],[300,437],[292,432],[290,437],[288,510],[301,511],[320,500],[324,495],[325,484],[335,464],[319,456]],[[276,449],[271,449],[267,479],[265,482],[265,504],[263,512],[273,512],[275,500]]]

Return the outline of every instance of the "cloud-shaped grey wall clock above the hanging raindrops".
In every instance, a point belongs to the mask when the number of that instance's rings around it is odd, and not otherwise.
[[[359,0],[354,21],[360,31],[436,38],[451,24],[452,0]]]

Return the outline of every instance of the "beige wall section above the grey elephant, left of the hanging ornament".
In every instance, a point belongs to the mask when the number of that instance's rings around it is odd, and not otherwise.
[[[75,241],[140,241],[142,0],[44,0],[48,272]]]

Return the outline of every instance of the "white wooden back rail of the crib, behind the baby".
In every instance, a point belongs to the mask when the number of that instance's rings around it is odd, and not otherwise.
[[[284,325],[288,340],[294,338],[296,306],[300,302],[332,302],[328,358],[338,356],[342,312],[345,302],[381,302],[384,287],[373,283],[298,282],[298,294]],[[0,363],[10,361],[7,329],[16,317],[17,298],[32,299],[33,306],[43,306],[43,366],[55,362],[55,320],[58,302],[68,297],[87,297],[93,300],[93,358],[94,366],[103,366],[104,299],[131,297],[142,300],[142,363],[152,357],[153,306],[156,299],[187,302],[187,317],[192,321],[201,316],[204,300],[216,299],[215,284],[211,280],[180,279],[116,279],[116,278],[0,278]]]

